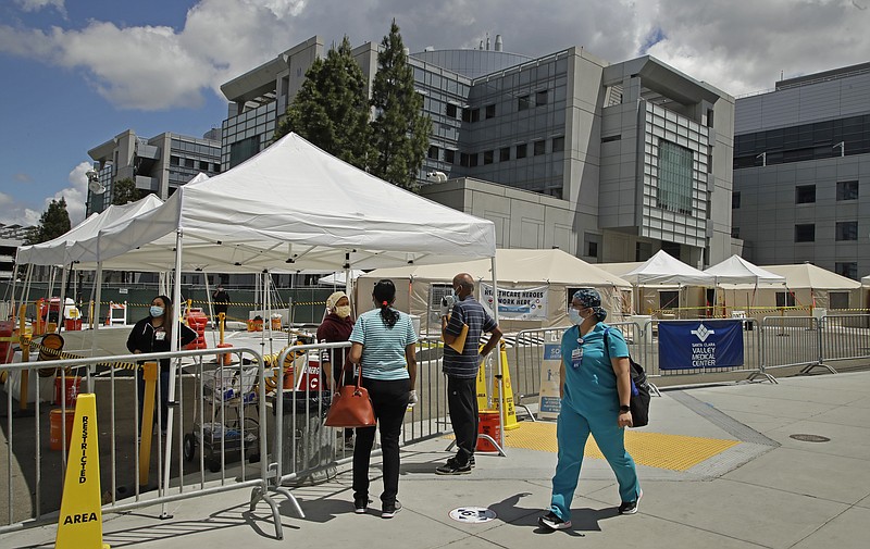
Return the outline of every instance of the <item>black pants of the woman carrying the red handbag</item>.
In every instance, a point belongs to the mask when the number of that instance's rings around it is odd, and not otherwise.
[[[381,502],[395,504],[399,492],[399,435],[410,398],[410,379],[362,378],[362,386],[369,389],[374,407],[374,416],[381,428],[381,450],[384,462],[384,491]],[[353,499],[369,497],[369,462],[372,458],[375,427],[357,428],[357,444],[353,446]]]

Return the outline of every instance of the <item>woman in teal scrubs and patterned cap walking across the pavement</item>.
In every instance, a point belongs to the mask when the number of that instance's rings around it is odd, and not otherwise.
[[[538,519],[547,529],[571,527],[571,500],[589,434],[617,475],[622,500],[619,513],[636,513],[643,496],[634,460],[624,442],[625,427],[632,426],[629,347],[620,330],[602,322],[607,311],[601,308],[597,290],[582,288],[574,292],[569,316],[573,326],[562,335],[562,402],[556,424],[559,461],[552,477],[550,510]]]

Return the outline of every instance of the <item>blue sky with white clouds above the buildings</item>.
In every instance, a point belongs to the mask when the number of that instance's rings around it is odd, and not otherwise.
[[[411,51],[543,55],[583,46],[651,54],[732,95],[870,61],[870,0],[0,0],[0,223],[34,224],[52,198],[84,216],[87,151],[132,128],[201,136],[220,85],[310,38]],[[509,9],[506,9],[509,7]],[[336,16],[340,13],[341,16]],[[821,47],[820,45],[824,45]]]

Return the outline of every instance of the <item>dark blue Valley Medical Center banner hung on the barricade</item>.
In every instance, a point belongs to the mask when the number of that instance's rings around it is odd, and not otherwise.
[[[743,365],[743,322],[659,323],[659,367],[693,370]]]

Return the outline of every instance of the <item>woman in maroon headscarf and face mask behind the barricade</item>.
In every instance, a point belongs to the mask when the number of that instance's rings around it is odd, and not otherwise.
[[[318,342],[339,344],[350,339],[353,330],[353,320],[350,316],[350,300],[344,291],[334,291],[326,298],[326,310],[328,313],[323,319],[318,328]],[[320,363],[323,372],[323,379],[328,382],[335,379],[335,385],[341,385],[343,373],[344,383],[355,383],[353,371],[345,371],[345,358],[347,349],[324,349],[321,352]],[[353,448],[353,429],[345,431],[345,448]]]

